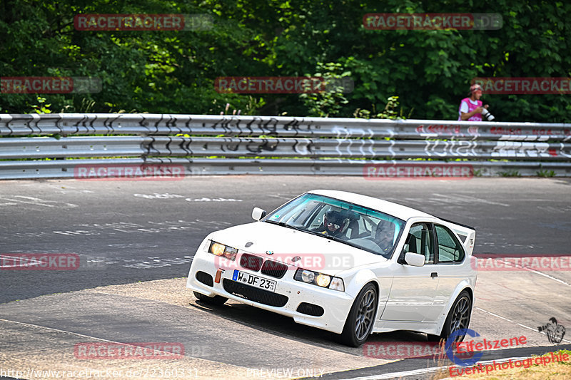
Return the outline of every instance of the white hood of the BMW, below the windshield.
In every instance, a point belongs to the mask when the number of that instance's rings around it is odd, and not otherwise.
[[[216,231],[210,235],[210,239],[237,248],[239,252],[331,275],[345,269],[387,261],[385,257],[342,242],[266,222]],[[299,259],[293,261],[294,257]]]

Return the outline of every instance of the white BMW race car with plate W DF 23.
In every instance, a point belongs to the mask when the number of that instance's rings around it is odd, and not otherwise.
[[[333,190],[305,192],[268,215],[256,207],[252,217],[198,247],[186,286],[201,302],[233,299],[340,334],[349,346],[373,332],[440,340],[468,328],[473,227]]]

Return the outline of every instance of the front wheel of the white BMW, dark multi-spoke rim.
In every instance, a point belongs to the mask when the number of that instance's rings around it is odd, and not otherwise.
[[[365,343],[373,330],[377,313],[378,295],[375,285],[366,284],[359,292],[349,311],[340,342],[347,346],[358,347]]]

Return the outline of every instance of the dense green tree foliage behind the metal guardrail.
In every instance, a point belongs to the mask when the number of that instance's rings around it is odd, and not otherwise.
[[[499,30],[368,30],[368,13],[497,13]],[[76,14],[208,14],[201,31],[79,31]],[[571,3],[506,0],[3,0],[0,73],[96,77],[98,93],[41,94],[53,112],[414,117],[455,120],[475,77],[570,77]],[[220,76],[351,78],[350,93],[218,93]],[[0,112],[43,112],[0,94]],[[398,97],[400,111],[387,110]],[[571,96],[489,95],[498,121],[571,122]],[[367,110],[368,114],[364,111]],[[378,112],[375,110],[384,110]],[[403,110],[410,110],[403,113]],[[390,112],[388,112],[390,111]],[[405,115],[406,114],[406,115]]]

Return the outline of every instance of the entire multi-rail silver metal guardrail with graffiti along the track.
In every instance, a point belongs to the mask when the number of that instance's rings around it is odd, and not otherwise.
[[[157,163],[181,165],[185,175],[363,175],[365,165],[434,165],[442,160],[470,163],[477,175],[485,176],[571,176],[571,124],[146,113],[0,115],[0,179],[74,177],[77,165]]]

